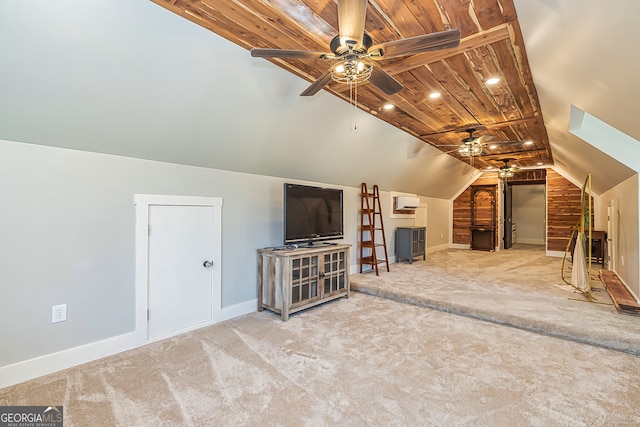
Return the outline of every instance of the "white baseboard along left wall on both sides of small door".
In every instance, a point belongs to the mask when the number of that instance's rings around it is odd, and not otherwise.
[[[215,323],[240,317],[257,310],[257,298],[229,307],[223,307],[220,312],[220,319]],[[207,326],[209,325],[210,324],[207,324]],[[101,341],[83,344],[56,353],[45,354],[23,362],[0,367],[0,388],[9,387],[62,369],[112,356],[116,353],[147,344],[140,344],[137,337],[137,332],[128,332]]]

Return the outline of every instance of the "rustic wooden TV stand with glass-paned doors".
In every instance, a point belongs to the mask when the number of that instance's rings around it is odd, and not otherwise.
[[[258,311],[289,315],[336,298],[349,298],[347,244],[258,249]]]

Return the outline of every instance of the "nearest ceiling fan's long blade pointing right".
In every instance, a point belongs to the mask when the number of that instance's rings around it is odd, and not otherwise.
[[[369,52],[382,50],[382,56],[372,59],[392,59],[401,56],[411,56],[423,52],[451,49],[460,45],[460,30],[447,30],[423,36],[409,37],[371,46]]]

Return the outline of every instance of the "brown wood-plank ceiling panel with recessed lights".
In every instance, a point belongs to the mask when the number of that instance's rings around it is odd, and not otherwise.
[[[338,34],[336,0],[152,1],[246,49],[330,52]],[[452,156],[473,160],[478,169],[503,166],[505,158],[520,167],[552,164],[513,0],[368,2],[365,31],[373,44],[448,29],[460,30],[459,47],[376,61],[404,89],[389,96],[365,82],[357,89],[358,106]],[[251,60],[247,52],[247,64]],[[319,59],[270,60],[310,82],[330,66]],[[490,77],[499,83],[486,84]],[[349,101],[348,85],[332,82],[325,90]],[[433,92],[441,96],[432,99]],[[388,102],[393,110],[382,108]],[[474,137],[493,137],[473,159],[456,150],[468,128],[477,129]]]

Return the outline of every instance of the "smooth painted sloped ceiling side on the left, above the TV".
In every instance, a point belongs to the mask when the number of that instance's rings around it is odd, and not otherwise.
[[[0,28],[0,139],[438,198],[471,169],[148,0],[0,2]]]

